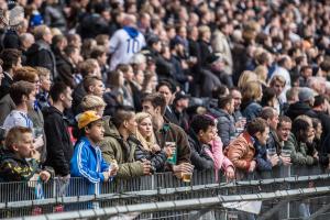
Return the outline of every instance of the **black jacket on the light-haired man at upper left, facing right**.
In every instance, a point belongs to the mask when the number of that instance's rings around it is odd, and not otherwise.
[[[50,69],[51,78],[57,78],[56,61],[51,46],[45,41],[37,41],[26,52],[26,65]]]

